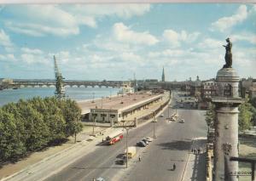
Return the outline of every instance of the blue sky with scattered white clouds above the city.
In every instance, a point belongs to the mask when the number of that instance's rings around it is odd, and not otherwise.
[[[233,68],[256,78],[256,5],[125,3],[0,5],[0,77],[69,80],[216,76],[225,39]]]

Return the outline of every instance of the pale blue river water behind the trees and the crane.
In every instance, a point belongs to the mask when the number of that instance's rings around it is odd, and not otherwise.
[[[70,99],[84,100],[97,99],[115,95],[119,88],[66,88],[66,95]],[[18,88],[4,89],[0,91],[0,106],[19,99],[31,99],[35,96],[49,97],[55,95],[55,88]]]

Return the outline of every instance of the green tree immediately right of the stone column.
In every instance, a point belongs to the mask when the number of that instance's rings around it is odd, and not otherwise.
[[[253,117],[253,106],[249,103],[248,97],[246,97],[245,102],[242,103],[239,106],[239,118],[238,118],[238,124],[239,124],[239,130],[241,132],[245,131],[246,129],[249,129],[252,127],[252,117]]]

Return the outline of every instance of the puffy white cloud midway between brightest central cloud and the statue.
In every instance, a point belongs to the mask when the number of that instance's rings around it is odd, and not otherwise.
[[[173,47],[179,47],[181,42],[195,42],[200,32],[187,33],[187,31],[173,31],[172,29],[165,30],[163,33],[164,39],[172,44]]]

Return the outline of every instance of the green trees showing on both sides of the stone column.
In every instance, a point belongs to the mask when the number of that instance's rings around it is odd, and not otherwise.
[[[244,132],[253,126],[253,122],[256,122],[256,97],[249,99],[248,96],[246,96],[244,103],[239,105],[238,110],[239,131]],[[213,123],[215,119],[216,113],[214,111],[214,105],[210,105],[209,110],[206,112],[207,126],[214,127]]]

